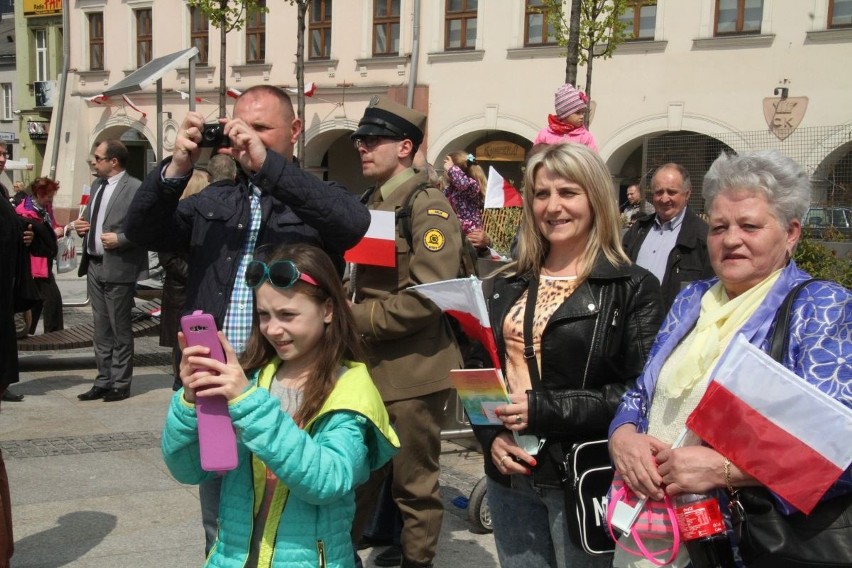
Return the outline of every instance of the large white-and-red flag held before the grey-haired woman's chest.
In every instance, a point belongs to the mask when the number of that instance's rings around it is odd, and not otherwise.
[[[852,463],[852,409],[739,335],[686,425],[806,514]]]

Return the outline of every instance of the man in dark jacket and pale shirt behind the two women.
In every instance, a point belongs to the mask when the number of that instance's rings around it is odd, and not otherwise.
[[[668,310],[687,283],[713,276],[707,256],[708,227],[687,209],[692,183],[683,166],[660,166],[651,180],[651,192],[655,213],[636,219],[624,234],[624,251],[660,281]]]

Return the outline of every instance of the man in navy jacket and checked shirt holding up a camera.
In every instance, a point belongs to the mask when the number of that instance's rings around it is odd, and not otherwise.
[[[221,119],[219,126],[221,137],[205,127],[202,114],[187,114],[171,158],[136,194],[127,235],[151,250],[188,253],[184,311],[212,314],[239,354],[251,329],[252,291],[243,275],[254,251],[306,242],[323,248],[342,272],[343,253],[367,232],[370,213],[344,187],[293,162],[302,123],[281,89],[247,89],[233,118]],[[179,201],[202,145],[210,144],[219,145],[214,151],[229,154],[242,171],[233,184],[217,184]],[[214,482],[200,490],[207,550],[216,535],[219,480]]]

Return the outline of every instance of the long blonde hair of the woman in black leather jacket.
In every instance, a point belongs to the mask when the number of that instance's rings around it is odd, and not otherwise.
[[[621,247],[621,221],[612,176],[603,160],[582,144],[554,144],[537,149],[527,161],[523,188],[524,222],[521,224],[515,274],[530,271],[538,274],[550,252],[550,243],[541,234],[533,215],[535,176],[542,168],[586,190],[592,226],[577,276],[581,280],[588,277],[601,253],[613,266],[630,264]]]

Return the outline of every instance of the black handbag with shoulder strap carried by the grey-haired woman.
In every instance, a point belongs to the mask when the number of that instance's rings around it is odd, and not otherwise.
[[[793,288],[778,308],[769,355],[779,363],[789,347],[793,300],[811,282]],[[767,489],[745,487],[732,497],[732,511],[749,568],[852,566],[852,494],[822,501],[810,515],[785,515]]]

